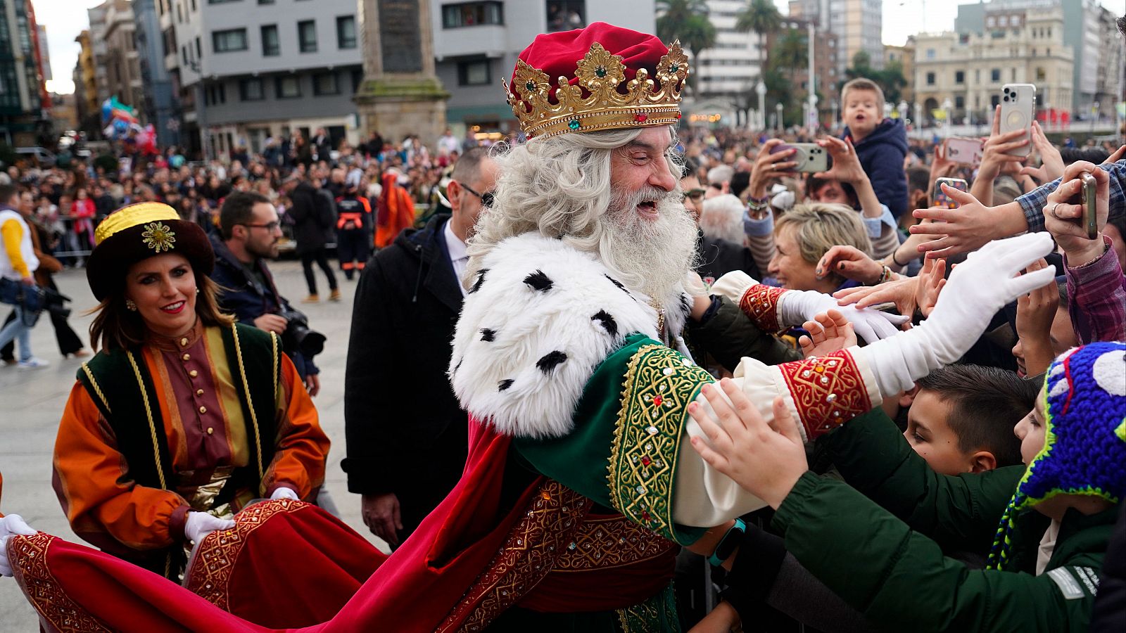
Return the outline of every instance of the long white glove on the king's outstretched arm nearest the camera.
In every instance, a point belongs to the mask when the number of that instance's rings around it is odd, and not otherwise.
[[[881,395],[911,389],[917,380],[962,358],[1006,304],[1052,280],[1052,267],[1017,274],[1053,246],[1046,232],[989,242],[954,269],[930,318],[918,328],[850,351],[867,360]]]

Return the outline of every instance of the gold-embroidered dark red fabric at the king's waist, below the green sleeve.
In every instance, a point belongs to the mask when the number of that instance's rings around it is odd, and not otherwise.
[[[555,561],[557,572],[610,569],[647,561],[679,547],[623,516],[588,518]]]

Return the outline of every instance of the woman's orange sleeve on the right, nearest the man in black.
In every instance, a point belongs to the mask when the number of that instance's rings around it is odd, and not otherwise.
[[[297,368],[282,355],[282,384],[277,402],[277,444],[274,461],[266,470],[262,488],[269,497],[279,485],[293,488],[306,499],[324,483],[329,438],[321,429],[313,400],[305,391]]]

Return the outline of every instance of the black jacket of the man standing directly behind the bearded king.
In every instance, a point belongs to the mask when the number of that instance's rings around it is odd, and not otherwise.
[[[443,235],[448,219],[408,229],[377,252],[352,309],[342,464],[348,490],[394,492],[404,514],[411,505],[441,500],[468,451],[466,414],[446,377],[462,309]]]

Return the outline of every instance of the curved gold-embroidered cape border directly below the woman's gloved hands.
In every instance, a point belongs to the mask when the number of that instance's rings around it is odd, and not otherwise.
[[[223,610],[230,610],[231,573],[251,533],[275,515],[295,512],[309,506],[304,501],[277,499],[242,510],[234,516],[233,528],[204,537],[184,574],[184,586]]]

